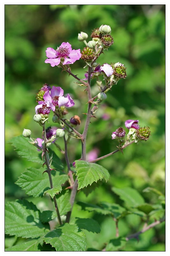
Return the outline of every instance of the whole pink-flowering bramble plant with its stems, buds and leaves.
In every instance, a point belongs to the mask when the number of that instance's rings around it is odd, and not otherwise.
[[[16,184],[25,190],[28,196],[50,196],[54,202],[54,211],[41,212],[26,199],[8,202],[5,205],[5,233],[26,238],[26,240],[24,243],[5,249],[5,251],[53,251],[53,249],[56,251],[86,251],[88,233],[85,231],[100,233],[100,226],[92,218],[85,219],[81,216],[71,218],[77,191],[81,191],[99,180],[104,179],[106,182],[109,180],[110,175],[107,169],[96,162],[119,151],[123,153],[123,150],[132,143],[138,145],[139,142],[149,139],[150,128],[147,124],[140,127],[139,120],[124,120],[124,127],[117,127],[110,134],[110,140],[116,139],[118,142],[117,149],[100,157],[93,152],[91,160],[87,161],[86,138],[91,118],[95,117],[98,108],[103,101],[107,100],[107,93],[111,93],[112,87],[127,76],[126,67],[122,63],[114,63],[113,60],[111,63],[98,63],[100,54],[105,50],[108,51],[109,47],[114,44],[110,26],[101,25],[100,28],[95,28],[89,42],[87,42],[87,38],[88,35],[85,32],[78,34],[78,40],[85,44],[82,51],[80,49],[72,50],[71,44],[68,42],[63,42],[56,50],[48,47],[45,60],[45,63],[50,64],[51,67],[56,68],[55,66],[57,66],[61,68],[61,71],[73,76],[78,80],[76,84],[84,88],[84,93],[87,94],[88,108],[85,113],[83,132],[79,133],[76,129],[82,124],[78,115],[74,115],[70,119],[66,117],[69,108],[76,104],[75,99],[72,99],[69,94],[65,95],[62,87],[51,87],[45,83],[36,93],[37,105],[33,116],[35,124],[41,126],[42,134],[37,134],[37,138],[32,138],[31,131],[24,129],[22,135],[11,140],[20,156],[41,165],[39,169],[33,167],[26,169]],[[85,62],[85,78],[79,78],[71,71],[71,64],[78,60]],[[92,79],[96,80],[95,86],[98,87],[96,95],[92,95],[91,92]],[[56,126],[49,124],[49,115],[53,115],[52,121]],[[127,134],[124,128],[128,129]],[[70,163],[71,152],[68,150],[68,145],[76,139],[81,143],[82,151],[79,159]],[[60,145],[61,140],[64,141],[64,148]],[[56,152],[50,148],[52,143],[56,146]],[[56,155],[57,150],[65,156],[67,171],[64,171],[63,163]],[[112,190],[124,202],[123,206],[107,202],[100,202],[98,205],[77,202],[82,210],[111,216],[115,222],[116,236],[107,244],[101,244],[101,251],[120,251],[130,239],[140,239],[141,233],[165,221],[165,197],[158,190],[150,187],[144,190],[144,192],[152,191],[159,196],[160,204],[157,205],[146,203],[134,188],[113,188]],[[162,218],[151,222],[152,214],[160,210]],[[124,237],[119,236],[119,220],[129,214],[140,216],[144,226],[136,233],[132,230],[131,234]],[[49,221],[54,219],[57,219],[56,225],[50,226]],[[95,251],[95,248],[92,248],[92,251]]]

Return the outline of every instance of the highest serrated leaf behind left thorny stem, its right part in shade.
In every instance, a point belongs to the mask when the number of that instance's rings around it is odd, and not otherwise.
[[[28,138],[24,138],[22,135],[18,137],[13,137],[9,142],[16,148],[15,150],[18,152],[18,155],[21,157],[25,157],[28,161],[36,162],[39,164],[43,164],[42,161],[42,152],[38,151],[38,149],[30,144]],[[55,152],[48,148],[49,156],[53,156],[51,168],[62,171],[63,164],[58,156],[56,156]]]

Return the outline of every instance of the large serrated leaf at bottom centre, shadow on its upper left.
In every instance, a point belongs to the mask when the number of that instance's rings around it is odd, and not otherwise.
[[[55,247],[57,252],[84,252],[87,246],[84,232],[78,232],[76,225],[68,223],[48,232],[44,241]]]

